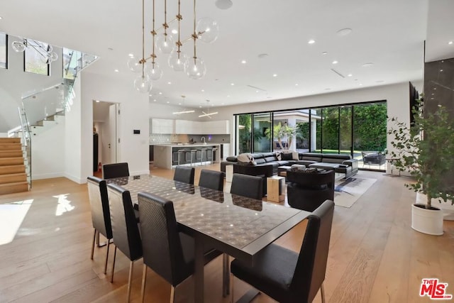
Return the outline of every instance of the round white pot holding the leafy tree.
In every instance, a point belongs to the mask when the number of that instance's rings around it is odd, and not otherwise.
[[[429,235],[443,235],[443,211],[433,208],[426,209],[424,204],[411,205],[411,228]]]

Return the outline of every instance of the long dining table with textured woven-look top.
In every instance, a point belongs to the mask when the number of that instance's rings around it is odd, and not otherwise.
[[[197,303],[204,302],[204,246],[252,265],[262,248],[311,214],[153,175],[118,177],[106,182],[128,189],[133,204],[137,204],[138,192],[150,192],[173,202],[181,230],[195,240],[194,302]]]

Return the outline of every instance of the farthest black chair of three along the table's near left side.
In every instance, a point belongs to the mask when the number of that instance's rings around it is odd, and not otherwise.
[[[107,273],[107,261],[109,260],[109,246],[112,238],[111,212],[109,209],[109,198],[107,197],[106,180],[98,177],[87,177],[88,197],[92,212],[92,223],[94,228],[92,255],[94,255],[94,243],[96,236],[99,247],[99,233],[107,239],[106,264],[104,265],[104,275]]]

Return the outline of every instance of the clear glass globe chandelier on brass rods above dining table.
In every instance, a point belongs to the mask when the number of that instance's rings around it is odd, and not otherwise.
[[[151,55],[145,57],[145,0],[142,0],[142,57],[137,59],[131,57],[128,60],[128,68],[132,72],[140,73],[134,80],[134,87],[139,92],[147,93],[153,87],[153,81],[162,77],[162,70],[157,63],[158,56],[155,50],[159,50],[162,55],[168,55],[167,64],[175,72],[185,72],[191,79],[201,79],[206,74],[204,60],[197,57],[197,40],[205,43],[212,43],[218,38],[218,23],[211,18],[196,19],[196,0],[193,4],[192,34],[181,37],[182,14],[181,0],[177,0],[178,12],[172,21],[167,22],[167,0],[164,0],[164,23],[160,28],[155,28],[155,0],[153,0],[152,29],[150,31],[153,42],[151,45]],[[168,33],[169,25],[177,21],[177,41]],[[193,41],[192,57],[183,52],[182,46],[187,41]],[[159,58],[160,59],[160,58]],[[162,62],[162,61],[161,61]]]

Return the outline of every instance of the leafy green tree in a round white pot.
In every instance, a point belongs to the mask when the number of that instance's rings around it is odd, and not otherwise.
[[[394,126],[387,131],[392,136],[390,151],[393,164],[400,172],[409,172],[414,182],[405,184],[416,192],[416,203],[411,209],[411,228],[428,234],[443,234],[443,212],[434,207],[436,199],[454,201],[452,182],[454,172],[454,120],[444,106],[429,113],[423,111],[423,100],[416,100],[414,123],[392,118]],[[423,203],[421,194],[425,195]]]

